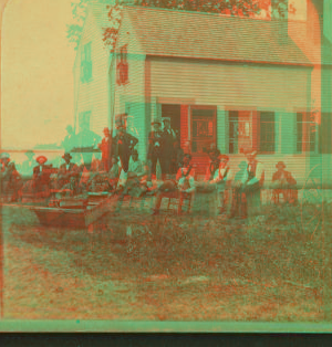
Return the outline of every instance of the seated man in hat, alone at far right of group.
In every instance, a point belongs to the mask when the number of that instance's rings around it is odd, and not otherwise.
[[[283,200],[289,203],[298,202],[298,190],[292,189],[297,186],[297,180],[292,177],[291,172],[286,171],[283,161],[276,165],[277,171],[272,175],[272,182],[277,189],[273,189],[273,201],[279,202],[279,194],[283,196]]]

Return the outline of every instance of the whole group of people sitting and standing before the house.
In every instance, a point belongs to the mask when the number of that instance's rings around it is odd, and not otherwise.
[[[59,168],[48,165],[45,156],[38,156],[33,164],[33,153],[29,162],[32,177],[23,182],[8,154],[2,154],[1,160],[1,192],[11,192],[13,201],[24,196],[48,198],[51,192],[56,199],[74,197],[86,192],[108,191],[118,196],[117,210],[121,209],[124,196],[141,197],[144,193],[156,194],[153,214],[159,213],[164,197],[179,199],[178,213],[183,212],[184,200],[193,201],[195,192],[217,192],[220,213],[229,212],[229,218],[247,218],[248,207],[251,211],[260,207],[260,190],[264,181],[264,169],[257,160],[257,153],[252,149],[243,150],[246,161],[239,166],[240,170],[234,175],[229,165],[229,156],[220,154],[216,146],[211,146],[207,154],[209,164],[204,181],[196,180],[195,166],[191,162],[190,146],[179,146],[179,139],[170,128],[170,119],[163,118],[162,124],[154,122],[153,130],[148,135],[147,160],[138,158],[135,146],[138,139],[126,133],[118,124],[116,135],[112,137],[108,128],[104,129],[104,138],[97,145],[102,153],[100,165],[86,168],[72,162],[72,155],[66,151],[62,156],[63,164]],[[162,182],[156,183],[157,164],[160,165]],[[295,203],[298,191],[297,181],[283,162],[277,164],[277,171],[272,177],[274,202],[280,193],[283,200]],[[228,208],[229,192],[231,203]]]

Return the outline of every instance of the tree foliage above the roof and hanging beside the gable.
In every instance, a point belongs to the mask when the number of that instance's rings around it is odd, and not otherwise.
[[[103,40],[111,48],[111,52],[114,50],[121,23],[122,4],[266,19],[284,19],[288,9],[295,12],[291,0],[75,0],[72,3],[74,23],[68,25],[68,38],[76,44],[75,49],[81,39],[86,8],[91,2],[105,4],[105,10],[108,10],[110,25],[104,28]]]

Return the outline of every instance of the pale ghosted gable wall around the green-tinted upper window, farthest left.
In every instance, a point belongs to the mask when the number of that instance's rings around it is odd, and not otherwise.
[[[83,83],[80,78],[81,51],[89,42],[91,42],[92,78],[90,82]],[[76,133],[80,132],[79,115],[82,112],[91,112],[90,128],[101,136],[103,128],[111,125],[107,70],[108,52],[102,41],[102,30],[96,25],[92,13],[89,12],[74,66]]]

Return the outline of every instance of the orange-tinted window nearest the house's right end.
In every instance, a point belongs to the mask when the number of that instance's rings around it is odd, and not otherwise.
[[[317,124],[311,113],[297,114],[297,151],[315,151]]]

